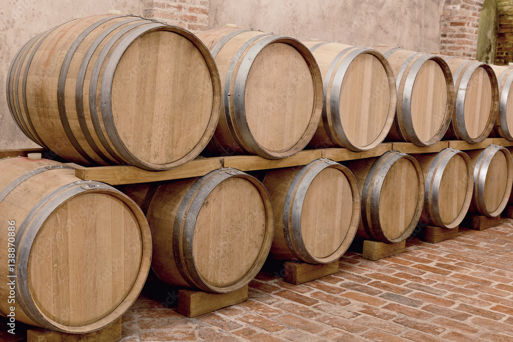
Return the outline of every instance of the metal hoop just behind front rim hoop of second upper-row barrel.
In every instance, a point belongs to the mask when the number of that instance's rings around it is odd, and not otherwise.
[[[231,81],[233,79],[233,73],[235,72],[235,67],[239,62],[242,54],[249,45],[251,45],[254,41],[264,36],[270,35],[270,33],[259,34],[257,36],[248,39],[246,43],[244,43],[241,48],[235,53],[233,56],[230,66],[228,67],[228,71],[226,72],[224,92],[223,92],[223,103],[224,103],[224,116],[226,119],[226,124],[228,126],[228,130],[230,131],[230,135],[235,140],[235,143],[239,146],[239,148],[243,151],[243,153],[251,153],[250,148],[244,143],[244,140],[240,138],[240,132],[237,129],[236,125],[234,125],[232,120],[232,113],[230,110],[230,86]]]

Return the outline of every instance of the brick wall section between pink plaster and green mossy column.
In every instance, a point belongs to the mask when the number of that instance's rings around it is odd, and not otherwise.
[[[484,1],[445,0],[440,18],[440,53],[476,58],[479,14]]]

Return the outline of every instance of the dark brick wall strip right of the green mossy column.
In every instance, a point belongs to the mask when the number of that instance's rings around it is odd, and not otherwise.
[[[513,4],[511,0],[497,0],[499,34],[495,64],[513,62]]]

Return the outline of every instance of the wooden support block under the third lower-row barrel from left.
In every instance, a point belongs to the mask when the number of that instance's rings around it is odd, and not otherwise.
[[[287,261],[285,263],[283,280],[290,284],[299,285],[307,281],[337,273],[338,271],[339,260],[335,260],[329,264],[306,264]]]

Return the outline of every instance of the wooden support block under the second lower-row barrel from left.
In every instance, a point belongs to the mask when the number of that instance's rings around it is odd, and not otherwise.
[[[194,290],[178,291],[178,312],[196,317],[248,299],[248,286],[229,293],[209,293]]]

